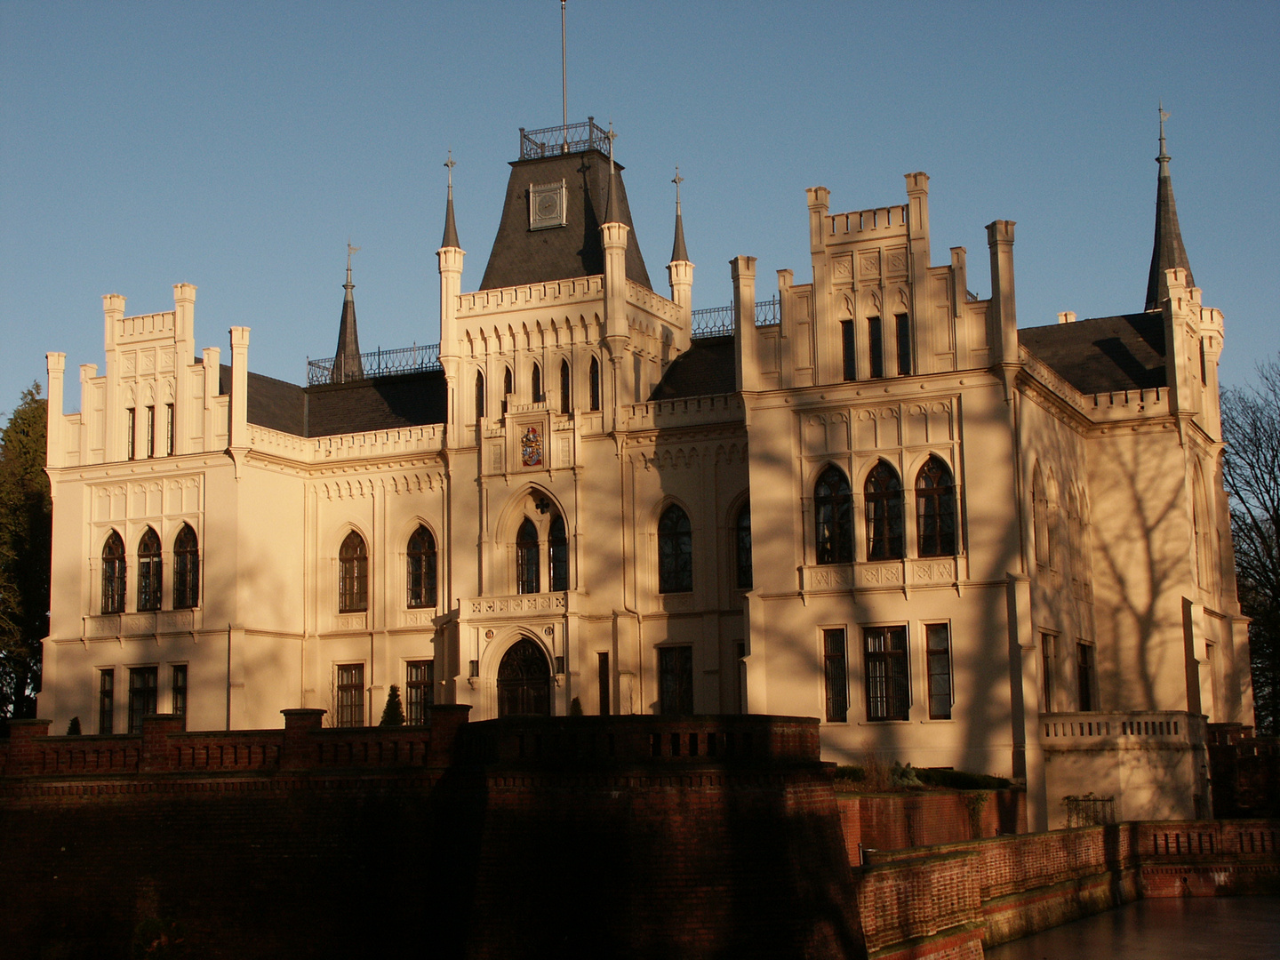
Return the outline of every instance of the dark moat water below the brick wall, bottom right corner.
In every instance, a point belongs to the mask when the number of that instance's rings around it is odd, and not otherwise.
[[[1280,960],[1280,896],[1139,900],[992,947],[986,960]]]

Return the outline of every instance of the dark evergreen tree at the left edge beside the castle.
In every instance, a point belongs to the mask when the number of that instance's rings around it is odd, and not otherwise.
[[[45,408],[40,384],[32,384],[0,433],[0,717],[36,716],[41,640],[49,634]]]

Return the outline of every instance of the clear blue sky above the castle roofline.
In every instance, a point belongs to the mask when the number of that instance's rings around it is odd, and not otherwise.
[[[1140,310],[1164,100],[1196,282],[1226,315],[1224,384],[1280,349],[1280,4],[570,0],[568,111],[618,132],[636,238],[666,291],[680,164],[694,306],[809,279],[805,187],[832,212],[931,177],[933,262],[1018,221],[1023,326]],[[449,148],[463,289],[520,127],[561,118],[559,4],[0,3],[0,410],[46,351],[102,362],[101,294],[173,308],[197,344],[252,328],[298,383],[333,355],[346,243],[364,349],[439,337]]]

